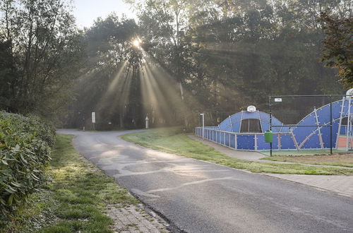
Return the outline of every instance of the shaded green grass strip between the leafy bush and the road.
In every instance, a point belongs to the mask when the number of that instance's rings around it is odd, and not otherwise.
[[[112,220],[104,215],[107,205],[136,205],[138,200],[114,179],[79,155],[73,136],[57,135],[52,162],[47,169],[51,182],[32,194],[1,232],[112,232]]]

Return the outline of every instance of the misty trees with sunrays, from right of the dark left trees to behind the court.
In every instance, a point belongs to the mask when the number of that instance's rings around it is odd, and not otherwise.
[[[97,129],[141,127],[145,117],[191,126],[199,112],[216,124],[249,104],[266,111],[268,95],[345,92],[321,63],[319,18],[352,17],[351,1],[126,2],[138,24],[112,15],[85,32],[90,63],[71,126],[92,128],[91,112]]]

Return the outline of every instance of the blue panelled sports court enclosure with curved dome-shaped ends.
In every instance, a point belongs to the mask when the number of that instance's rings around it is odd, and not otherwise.
[[[342,125],[342,119],[352,114],[351,102],[352,99],[344,97],[331,103],[333,148],[337,148],[340,134],[347,133],[347,126]],[[272,125],[275,126],[272,127],[273,150],[330,148],[330,122],[330,104],[313,109],[295,126],[286,126],[272,116]],[[255,131],[246,131],[246,126]],[[241,111],[227,117],[218,126],[205,127],[204,138],[236,150],[270,150],[270,143],[266,143],[264,138],[264,132],[269,129],[270,114]],[[196,136],[203,136],[202,127],[196,127]]]

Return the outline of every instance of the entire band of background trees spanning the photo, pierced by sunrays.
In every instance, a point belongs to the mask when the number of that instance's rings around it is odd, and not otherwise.
[[[139,128],[145,117],[193,126],[200,112],[215,124],[249,104],[265,110],[268,95],[352,88],[352,33],[348,64],[333,60],[322,15],[352,22],[352,1],[126,3],[137,20],[112,13],[80,31],[64,1],[3,1],[1,109],[61,112],[73,127],[92,126],[91,112],[97,129]]]

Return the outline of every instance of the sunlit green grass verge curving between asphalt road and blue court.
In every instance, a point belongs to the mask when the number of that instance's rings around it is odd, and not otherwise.
[[[166,153],[192,157],[197,160],[214,162],[237,169],[246,169],[251,172],[282,173],[282,174],[345,174],[353,175],[353,169],[341,169],[335,167],[319,167],[306,165],[283,165],[274,163],[252,162],[238,160],[224,155],[208,145],[195,141],[186,134],[177,130],[145,131],[140,133],[128,133],[121,136],[126,141],[138,145],[160,150]]]

